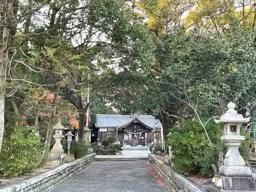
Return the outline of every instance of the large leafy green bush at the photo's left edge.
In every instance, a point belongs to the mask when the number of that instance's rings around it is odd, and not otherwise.
[[[39,163],[40,137],[35,126],[13,127],[10,137],[5,137],[0,155],[0,173],[16,177],[33,172]]]

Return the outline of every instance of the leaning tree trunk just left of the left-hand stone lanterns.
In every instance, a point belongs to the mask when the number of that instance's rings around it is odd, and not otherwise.
[[[51,109],[51,115],[50,115],[47,135],[46,135],[45,148],[44,148],[44,152],[42,154],[41,161],[39,163],[39,167],[44,167],[48,160],[48,155],[50,152],[50,145],[51,145],[51,140],[52,140],[52,134],[53,134],[53,126],[56,121],[55,103],[56,103],[57,98],[58,98],[58,94],[55,93],[53,103],[52,103],[52,109]]]

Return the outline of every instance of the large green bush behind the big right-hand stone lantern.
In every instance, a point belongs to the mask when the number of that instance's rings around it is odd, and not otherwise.
[[[207,133],[213,147],[210,147],[205,132],[197,120],[188,119],[183,126],[176,125],[167,136],[167,144],[172,146],[174,155],[172,161],[178,172],[189,175],[199,173],[202,176],[212,176],[211,164],[217,166],[219,153],[227,152],[227,147],[221,142],[224,126],[209,121],[206,125]],[[241,134],[244,135],[242,129]],[[252,139],[247,135],[240,146],[240,152],[246,160],[249,158],[249,145]]]

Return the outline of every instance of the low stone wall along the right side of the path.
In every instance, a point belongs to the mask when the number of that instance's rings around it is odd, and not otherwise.
[[[198,188],[195,184],[186,180],[184,177],[177,174],[172,168],[163,163],[156,155],[148,154],[148,160],[172,192],[203,192],[203,190]]]

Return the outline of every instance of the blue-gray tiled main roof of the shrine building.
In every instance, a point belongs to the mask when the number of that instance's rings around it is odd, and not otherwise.
[[[100,115],[96,114],[96,127],[118,127],[127,123],[132,115]],[[158,119],[151,115],[137,116],[138,119],[153,129],[161,128],[162,125]]]

